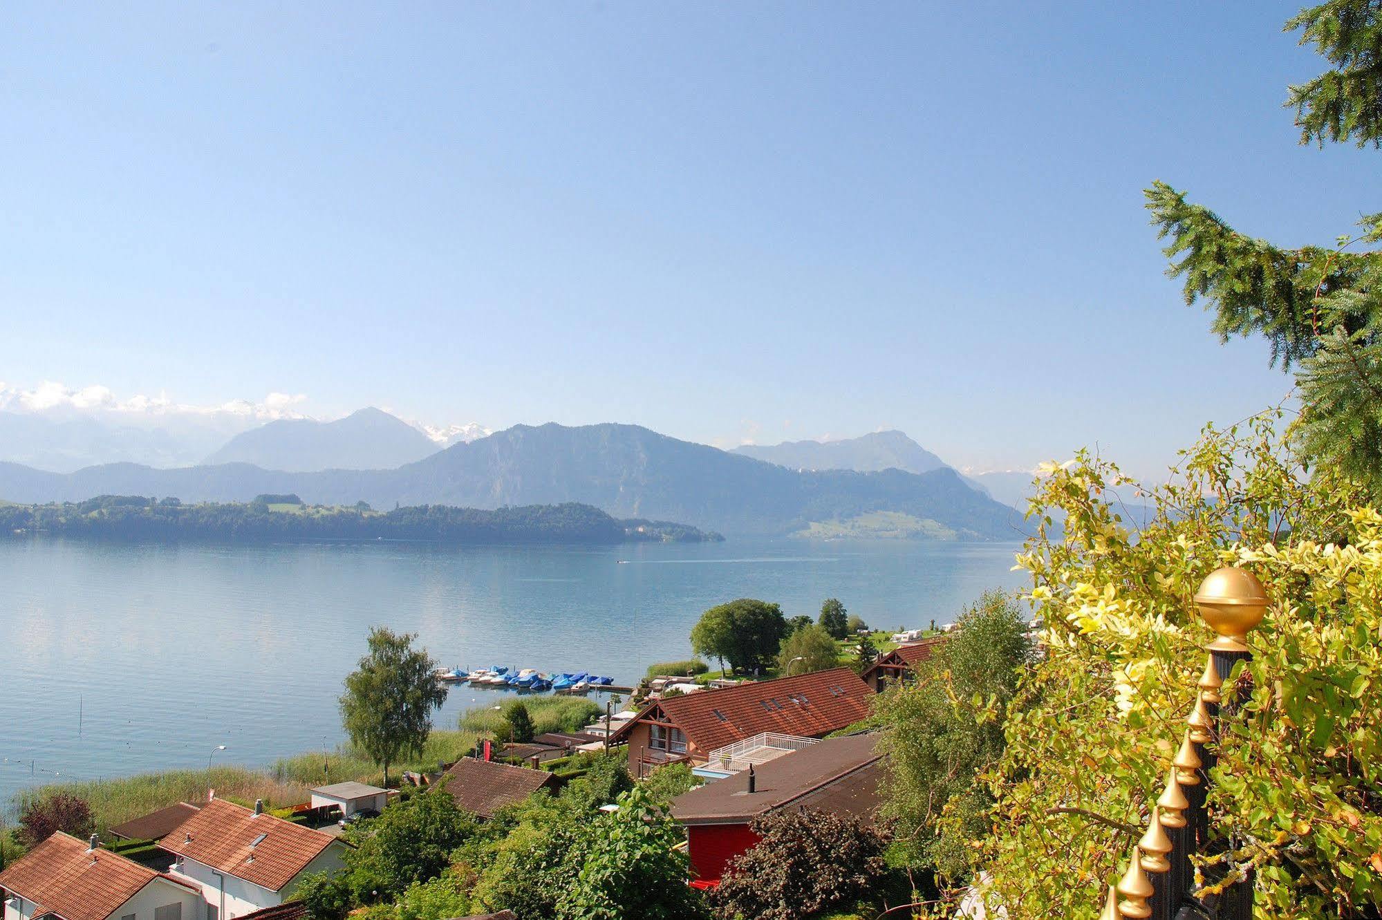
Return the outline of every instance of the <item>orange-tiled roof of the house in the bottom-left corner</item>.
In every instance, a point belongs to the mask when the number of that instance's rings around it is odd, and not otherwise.
[[[55,833],[0,872],[0,888],[65,920],[105,920],[152,881],[192,888],[109,850]],[[198,891],[196,888],[192,888]]]

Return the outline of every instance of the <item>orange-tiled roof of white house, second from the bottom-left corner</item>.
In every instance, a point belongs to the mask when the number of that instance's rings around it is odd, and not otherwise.
[[[265,834],[260,840],[260,834]],[[159,845],[188,859],[278,891],[334,843],[319,830],[213,798]]]

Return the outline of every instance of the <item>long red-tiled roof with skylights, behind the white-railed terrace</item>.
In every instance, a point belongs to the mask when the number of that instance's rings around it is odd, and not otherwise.
[[[623,740],[633,725],[659,710],[702,754],[760,732],[828,735],[868,716],[872,696],[873,688],[847,667],[749,681],[654,700],[611,742]]]

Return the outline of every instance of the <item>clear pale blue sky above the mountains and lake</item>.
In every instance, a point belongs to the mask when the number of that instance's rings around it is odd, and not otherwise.
[[[1329,242],[1294,3],[0,7],[0,380],[1135,471],[1280,401],[1154,178]]]

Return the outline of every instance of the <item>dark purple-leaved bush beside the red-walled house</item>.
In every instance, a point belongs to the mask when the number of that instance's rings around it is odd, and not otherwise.
[[[721,920],[799,920],[857,902],[886,874],[883,840],[858,821],[774,811],[752,827],[761,840],[730,863],[712,894]]]

